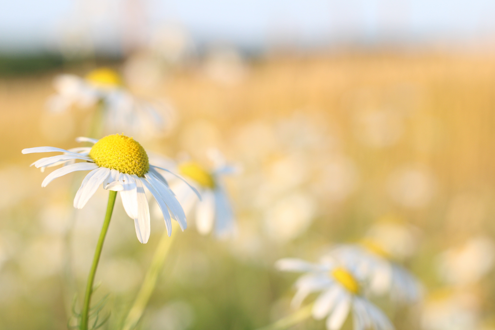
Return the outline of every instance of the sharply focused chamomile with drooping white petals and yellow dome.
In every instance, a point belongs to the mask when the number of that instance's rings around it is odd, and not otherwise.
[[[75,208],[83,208],[100,185],[103,185],[103,189],[119,191],[127,215],[134,219],[139,241],[146,243],[150,232],[146,188],[161,209],[168,235],[172,233],[170,215],[177,220],[182,230],[186,229],[186,215],[182,206],[168,187],[167,181],[156,171],[155,166],[149,164],[148,154],[139,142],[119,134],[109,135],[100,140],[78,138],[77,141],[94,144],[92,147],[70,150],[50,146],[22,150],[22,153],[62,152],[61,155],[41,158],[32,164],[42,170],[63,165],[43,180],[42,187],[70,172],[91,171],[76,193]],[[84,162],[76,163],[76,160]]]

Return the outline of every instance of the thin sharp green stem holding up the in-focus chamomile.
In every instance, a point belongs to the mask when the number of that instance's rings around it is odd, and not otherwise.
[[[86,285],[86,294],[84,295],[83,310],[81,312],[81,330],[88,330],[93,283],[95,282],[96,269],[98,267],[99,257],[101,255],[101,249],[103,248],[106,232],[108,231],[108,225],[110,225],[110,218],[112,217],[113,205],[115,205],[116,197],[117,191],[110,190],[110,194],[108,195],[108,204],[106,206],[105,220],[103,221],[103,227],[101,228],[98,243],[96,244],[95,256],[93,257],[93,264],[91,265],[90,274],[88,276],[88,284]]]

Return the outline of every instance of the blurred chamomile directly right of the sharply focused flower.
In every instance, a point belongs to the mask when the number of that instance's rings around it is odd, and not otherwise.
[[[194,212],[199,234],[213,232],[216,236],[225,237],[235,233],[236,224],[223,177],[238,172],[238,168],[227,164],[218,150],[210,150],[209,156],[214,163],[211,171],[192,161],[179,163],[176,168],[199,191],[201,200],[191,193],[191,189],[182,180],[171,178],[170,187],[186,214]]]

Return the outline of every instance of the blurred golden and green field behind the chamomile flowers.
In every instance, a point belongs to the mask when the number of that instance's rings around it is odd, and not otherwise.
[[[136,91],[176,109],[173,131],[143,141],[145,148],[170,157],[185,151],[208,164],[205,150],[218,147],[244,168],[228,182],[239,238],[174,233],[142,329],[247,330],[275,321],[289,310],[295,278],[276,272],[275,260],[316,260],[387,214],[421,233],[407,266],[431,290],[442,286],[438,253],[495,235],[493,56],[272,55],[221,70],[227,79],[201,63],[177,68],[156,88]],[[106,191],[75,211],[72,179],[41,189],[45,175],[28,167],[37,157],[20,152],[73,147],[87,131],[88,110],[44,111],[57,73],[0,81],[0,329],[65,329],[103,219]],[[97,293],[111,293],[108,329],[117,329],[164,228],[152,219],[142,245],[121,204],[116,209],[97,273]],[[67,223],[71,214],[75,222]],[[490,277],[473,289],[487,319],[495,317]],[[397,329],[419,329],[419,306],[378,303]],[[311,321],[297,329],[323,328]]]

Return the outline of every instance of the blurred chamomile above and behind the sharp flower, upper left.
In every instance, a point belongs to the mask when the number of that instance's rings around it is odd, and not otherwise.
[[[171,108],[155,105],[129,93],[117,72],[109,68],[99,68],[85,78],[63,74],[55,78],[56,93],[47,101],[52,112],[64,112],[71,106],[88,108],[98,103],[102,105],[102,119],[105,131],[125,131],[133,135],[153,136],[162,134],[167,125],[165,115]]]

